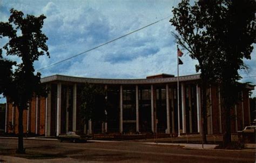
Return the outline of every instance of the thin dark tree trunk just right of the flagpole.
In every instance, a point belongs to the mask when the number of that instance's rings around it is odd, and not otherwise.
[[[201,132],[202,132],[202,136],[203,136],[203,143],[206,144],[207,143],[207,138],[206,138],[206,134],[207,134],[207,94],[206,94],[206,81],[202,80],[202,108],[201,108]]]

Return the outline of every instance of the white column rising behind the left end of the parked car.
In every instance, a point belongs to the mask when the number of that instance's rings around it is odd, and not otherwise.
[[[61,106],[62,104],[62,84],[57,84],[57,126],[56,126],[56,136],[60,134],[60,126],[61,126]]]

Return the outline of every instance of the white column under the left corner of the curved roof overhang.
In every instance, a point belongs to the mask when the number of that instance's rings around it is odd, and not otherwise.
[[[51,135],[51,86],[47,86],[50,91],[45,99],[45,136]]]

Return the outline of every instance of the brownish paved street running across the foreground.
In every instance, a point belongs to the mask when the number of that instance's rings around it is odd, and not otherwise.
[[[24,140],[27,153],[53,154],[64,158],[22,162],[254,162],[253,152],[185,150],[180,146],[142,144],[140,141],[70,143]],[[0,139],[0,154],[17,148],[16,139]],[[8,152],[7,152],[8,153]],[[16,159],[16,160],[15,160]],[[16,162],[17,158],[0,155],[0,160]]]

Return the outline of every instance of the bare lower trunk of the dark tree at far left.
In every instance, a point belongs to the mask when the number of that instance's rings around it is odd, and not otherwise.
[[[19,117],[18,117],[18,150],[16,153],[25,153],[23,148],[23,109],[19,108]]]

